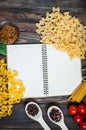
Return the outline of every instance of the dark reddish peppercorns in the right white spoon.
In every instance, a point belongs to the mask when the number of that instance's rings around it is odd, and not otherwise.
[[[51,110],[51,112],[50,112],[50,117],[51,117],[51,119],[52,119],[53,121],[58,122],[58,121],[61,120],[62,115],[61,115],[61,112],[60,112],[58,109],[53,108],[53,109]]]

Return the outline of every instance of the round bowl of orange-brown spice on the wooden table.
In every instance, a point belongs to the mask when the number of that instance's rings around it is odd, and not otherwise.
[[[0,40],[3,43],[11,44],[14,43],[19,37],[17,27],[12,23],[4,23],[0,27]]]

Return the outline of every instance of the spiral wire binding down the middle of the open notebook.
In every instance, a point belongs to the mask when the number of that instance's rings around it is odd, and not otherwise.
[[[48,90],[48,67],[47,67],[47,46],[42,45],[42,69],[43,69],[43,86],[44,86],[44,94],[47,96],[49,93]]]

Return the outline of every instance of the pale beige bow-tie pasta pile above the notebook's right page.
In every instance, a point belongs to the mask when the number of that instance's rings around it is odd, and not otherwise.
[[[59,8],[52,8],[36,24],[36,32],[41,35],[41,42],[66,52],[72,58],[84,58],[86,52],[86,26],[69,12],[61,13]]]

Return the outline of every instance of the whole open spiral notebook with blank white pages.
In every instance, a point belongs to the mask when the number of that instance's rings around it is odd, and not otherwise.
[[[69,95],[81,83],[81,61],[45,44],[7,45],[7,65],[19,72],[24,97]]]

